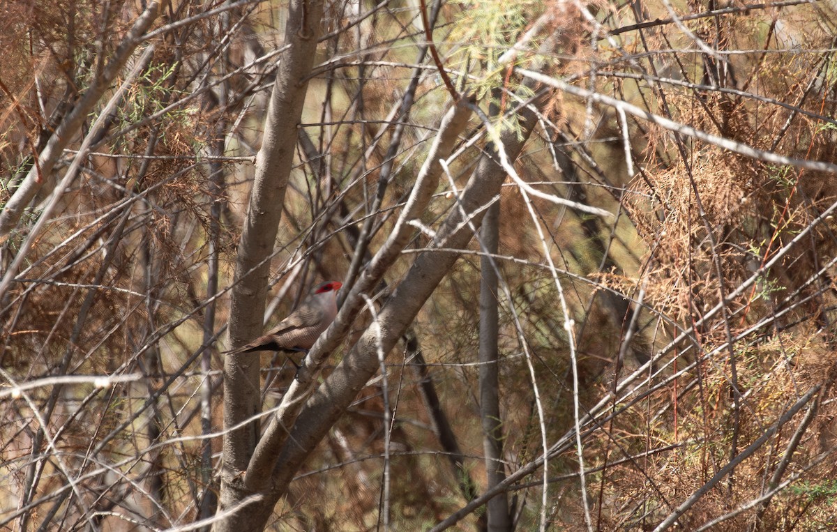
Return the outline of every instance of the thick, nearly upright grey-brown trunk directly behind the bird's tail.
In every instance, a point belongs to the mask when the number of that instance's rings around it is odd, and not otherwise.
[[[306,98],[307,77],[316,55],[323,13],[322,0],[292,0],[285,25],[287,49],[268,104],[261,149],[256,158],[253,192],[239,243],[235,284],[231,294],[229,338],[233,347],[260,335],[264,326],[264,297],[268,289],[270,256],[285,201],[293,164],[296,126]],[[259,357],[227,356],[223,366],[223,468],[219,510],[234,509],[249,496],[242,477],[259,437],[259,423],[236,425],[256,416],[261,407]],[[272,508],[272,506],[271,506]],[[213,529],[240,530],[249,509],[225,513]],[[248,528],[247,529],[253,529]]]

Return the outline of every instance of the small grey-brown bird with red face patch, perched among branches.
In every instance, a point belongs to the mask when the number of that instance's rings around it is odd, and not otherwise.
[[[337,290],[343,284],[326,281],[318,284],[306,299],[281,320],[279,325],[247,345],[225,351],[223,355],[240,355],[253,351],[296,351],[311,349],[316,339],[331,325],[337,315]]]

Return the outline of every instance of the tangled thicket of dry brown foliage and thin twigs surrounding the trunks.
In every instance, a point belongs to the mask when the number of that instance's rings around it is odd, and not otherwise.
[[[493,124],[514,123],[498,110],[542,90],[521,87],[511,69],[521,66],[773,155],[837,163],[833,3],[689,2],[675,5],[679,21],[666,3],[507,4],[500,13],[491,3],[443,2],[434,31],[457,88],[480,95]],[[155,28],[218,5],[167,3]],[[326,9],[331,33],[300,126],[314,151],[288,140],[297,166],[276,206],[284,217],[270,324],[317,280],[343,279],[367,217],[369,253],[380,248],[449,105],[429,57],[413,70],[424,43],[415,9],[358,3],[374,12],[359,20],[352,5]],[[139,9],[0,5],[0,205]],[[265,54],[282,42],[280,9],[242,6],[149,39],[151,63],[0,294],[0,527],[167,529],[198,519],[204,500],[213,508],[226,291],[275,71]],[[497,64],[531,28],[540,29],[515,61]],[[413,77],[414,102],[398,115]],[[837,225],[822,217],[837,202],[834,167],[742,155],[562,91],[535,101],[546,103],[516,171],[540,192],[614,217],[526,202],[511,179],[501,192],[504,460],[509,474],[528,471],[507,488],[517,528],[588,529],[589,518],[597,530],[652,530],[705,486],[680,529],[712,519],[712,530],[837,526]],[[388,116],[404,130],[381,207],[370,212],[395,138]],[[3,244],[0,275],[95,118],[74,132]],[[458,208],[453,188],[490,149],[485,131],[475,118],[460,139],[420,217],[425,229],[388,271],[377,305]],[[376,528],[385,478],[392,529],[432,526],[484,492],[479,254],[472,240],[413,324],[426,365],[402,344],[389,354],[386,384],[378,376],[360,391],[297,472],[271,529]],[[370,324],[358,316],[347,345]],[[262,362],[267,408],[294,371],[282,356]],[[732,473],[713,479],[812,390]],[[439,435],[444,418],[458,457]],[[543,441],[555,446],[546,504],[543,469],[526,470]],[[774,481],[781,489],[768,495]]]

